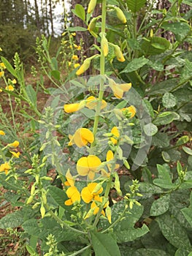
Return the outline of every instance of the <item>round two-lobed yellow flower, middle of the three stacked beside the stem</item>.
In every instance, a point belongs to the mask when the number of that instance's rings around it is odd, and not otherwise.
[[[90,180],[93,180],[95,173],[99,171],[99,165],[101,165],[99,157],[94,155],[81,157],[77,161],[77,173],[79,173],[80,176],[88,176]]]

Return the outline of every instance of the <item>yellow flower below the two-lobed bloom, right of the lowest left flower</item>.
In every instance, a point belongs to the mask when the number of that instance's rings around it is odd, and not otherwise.
[[[84,187],[81,191],[81,197],[82,200],[85,203],[90,203],[92,200],[98,200],[99,199],[99,194],[103,192],[103,188],[99,189],[96,193],[93,193],[93,190],[96,188],[97,183],[93,182],[88,184],[88,187]]]

